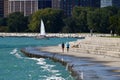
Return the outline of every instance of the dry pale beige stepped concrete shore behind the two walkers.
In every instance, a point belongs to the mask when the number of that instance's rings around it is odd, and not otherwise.
[[[86,37],[70,42],[70,51],[63,53],[61,46],[40,47],[40,51],[94,58],[107,66],[120,67],[120,38]]]

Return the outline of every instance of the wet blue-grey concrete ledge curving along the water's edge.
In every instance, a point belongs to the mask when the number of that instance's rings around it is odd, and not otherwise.
[[[44,48],[44,47],[43,47]],[[96,61],[92,57],[75,57],[68,54],[58,54],[57,52],[47,52],[36,47],[27,47],[21,50],[28,57],[50,58],[55,62],[62,63],[75,80],[119,80],[118,67],[109,67],[103,64],[111,61]],[[81,53],[79,53],[81,54]],[[81,54],[83,55],[83,53]],[[84,79],[83,79],[84,78]]]

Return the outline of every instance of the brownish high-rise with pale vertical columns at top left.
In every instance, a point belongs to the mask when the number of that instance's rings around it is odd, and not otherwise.
[[[38,0],[5,0],[5,16],[13,12],[23,12],[28,16],[38,10]]]

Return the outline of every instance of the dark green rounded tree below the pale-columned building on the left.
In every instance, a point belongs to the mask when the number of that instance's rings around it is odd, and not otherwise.
[[[10,32],[24,32],[27,29],[27,18],[23,13],[14,12],[8,16],[8,28]]]

